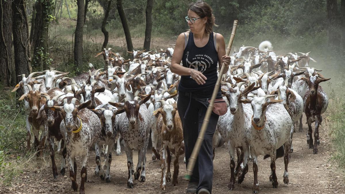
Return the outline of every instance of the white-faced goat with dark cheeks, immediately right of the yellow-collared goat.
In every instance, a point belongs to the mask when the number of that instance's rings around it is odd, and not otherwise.
[[[100,157],[101,145],[107,145],[108,147],[107,154],[105,154],[106,164],[104,165],[106,168],[106,173],[104,173],[103,168],[101,168],[101,162],[99,162],[95,168],[95,175],[99,176],[102,181],[105,179],[106,182],[110,182],[111,152],[115,141],[119,137],[119,134],[117,133],[118,114],[123,113],[125,110],[117,110],[106,104],[100,105],[92,111],[99,117],[102,128],[101,135],[99,136],[95,145],[96,158]]]

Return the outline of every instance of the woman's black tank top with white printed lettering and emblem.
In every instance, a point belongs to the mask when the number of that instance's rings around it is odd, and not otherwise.
[[[194,43],[193,32],[189,31],[188,42],[183,52],[182,64],[183,67],[200,71],[207,80],[204,85],[198,85],[190,76],[181,76],[178,87],[179,91],[211,96],[218,78],[218,54],[215,48],[213,32],[210,33],[208,42],[204,47],[197,47]]]

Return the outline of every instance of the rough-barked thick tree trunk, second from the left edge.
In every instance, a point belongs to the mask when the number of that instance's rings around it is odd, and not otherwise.
[[[13,0],[13,46],[14,46],[14,65],[16,67],[16,75],[25,74],[28,76],[31,73],[30,61],[30,44],[29,44],[29,27],[28,18],[26,15],[26,1]],[[21,77],[17,77],[17,83],[21,81]],[[17,90],[17,97],[21,96],[23,91]]]

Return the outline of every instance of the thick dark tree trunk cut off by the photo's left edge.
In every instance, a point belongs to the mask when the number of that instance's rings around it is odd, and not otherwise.
[[[1,0],[0,4],[0,82],[3,86],[11,84],[11,63],[12,63],[12,9],[11,1]]]

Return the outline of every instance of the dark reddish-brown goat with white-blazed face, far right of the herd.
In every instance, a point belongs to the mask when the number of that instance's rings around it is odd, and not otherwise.
[[[319,141],[319,125],[322,123],[322,114],[326,111],[328,107],[328,97],[325,91],[319,84],[323,81],[328,81],[319,75],[313,76],[309,74],[308,78],[302,77],[301,80],[307,82],[308,89],[303,97],[304,101],[304,113],[307,117],[308,123],[308,133],[307,133],[307,144],[309,149],[313,148],[313,153],[317,154],[317,145],[320,144]],[[314,131],[314,145],[313,145],[313,129],[312,122],[315,121],[315,131]]]

